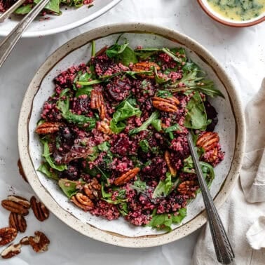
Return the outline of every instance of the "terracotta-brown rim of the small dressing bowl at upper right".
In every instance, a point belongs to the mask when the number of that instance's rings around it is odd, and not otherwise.
[[[258,18],[256,20],[252,20],[250,22],[236,22],[236,21],[232,22],[232,20],[231,21],[222,20],[222,18],[219,18],[216,15],[214,15],[214,13],[212,13],[212,10],[210,8],[205,6],[203,0],[197,0],[197,1],[198,1],[198,4],[203,9],[203,11],[207,15],[209,15],[210,18],[212,18],[213,20],[221,23],[222,25],[226,25],[226,26],[229,26],[229,27],[251,27],[251,26],[257,25],[257,24],[265,21],[265,14],[264,14],[263,17]]]

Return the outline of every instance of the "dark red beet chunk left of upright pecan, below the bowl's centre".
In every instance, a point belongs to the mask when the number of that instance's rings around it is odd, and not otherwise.
[[[143,168],[142,172],[147,179],[164,179],[167,165],[163,158],[156,156],[151,160],[150,165]]]

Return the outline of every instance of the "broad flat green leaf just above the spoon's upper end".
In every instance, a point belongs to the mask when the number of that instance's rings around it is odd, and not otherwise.
[[[207,115],[200,93],[196,91],[186,104],[184,126],[190,129],[205,130],[208,125]]]

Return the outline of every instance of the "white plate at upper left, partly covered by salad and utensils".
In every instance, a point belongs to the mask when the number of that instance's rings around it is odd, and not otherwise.
[[[81,6],[81,8],[63,6],[62,15],[46,15],[50,19],[42,21],[36,18],[22,37],[45,36],[74,29],[106,13],[120,1],[94,0],[94,6],[91,8],[86,5]],[[66,8],[67,10],[65,10]],[[0,24],[0,36],[6,36],[18,22],[20,22],[18,16],[12,16],[11,19],[2,22]]]

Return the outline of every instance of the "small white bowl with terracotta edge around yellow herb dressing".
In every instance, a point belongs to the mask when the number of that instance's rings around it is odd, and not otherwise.
[[[265,13],[261,13],[261,15],[259,15],[257,18],[252,18],[251,20],[245,20],[245,21],[231,20],[229,18],[225,18],[216,11],[212,10],[207,0],[198,0],[198,4],[200,4],[201,8],[203,8],[203,11],[205,11],[205,13],[210,16],[210,18],[226,26],[250,27],[265,21]]]

